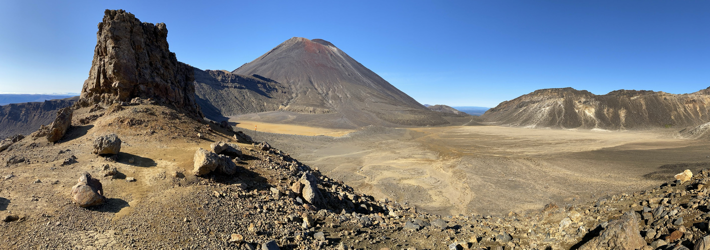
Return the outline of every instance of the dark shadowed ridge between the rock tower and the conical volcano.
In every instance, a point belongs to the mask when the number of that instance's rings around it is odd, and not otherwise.
[[[263,76],[231,74],[222,70],[195,70],[195,93],[202,113],[210,120],[283,108],[290,89]]]

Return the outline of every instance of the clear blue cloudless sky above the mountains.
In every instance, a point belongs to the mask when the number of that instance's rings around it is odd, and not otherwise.
[[[80,92],[104,9],[166,23],[170,50],[233,70],[322,38],[420,103],[496,106],[571,86],[710,86],[710,1],[0,1],[0,92]]]

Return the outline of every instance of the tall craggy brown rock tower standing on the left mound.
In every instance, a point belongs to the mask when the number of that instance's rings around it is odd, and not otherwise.
[[[124,10],[106,10],[99,23],[89,79],[79,106],[150,98],[202,118],[195,102],[195,72],[168,49],[165,23],[141,23]]]

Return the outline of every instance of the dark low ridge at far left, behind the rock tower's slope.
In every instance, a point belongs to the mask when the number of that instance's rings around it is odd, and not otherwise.
[[[0,138],[35,132],[41,125],[52,123],[57,117],[57,110],[72,106],[77,99],[79,96],[0,106]]]

